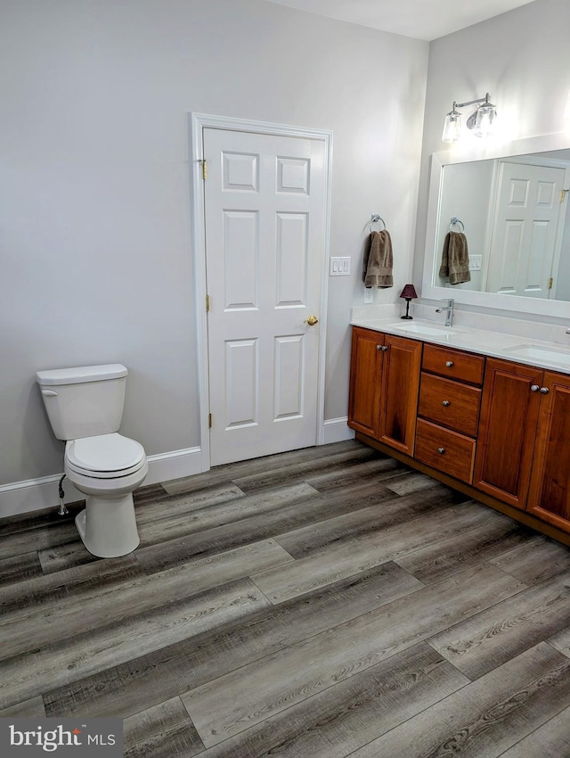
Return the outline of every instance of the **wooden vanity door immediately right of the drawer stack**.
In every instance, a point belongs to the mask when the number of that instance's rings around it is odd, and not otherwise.
[[[473,485],[522,510],[528,494],[542,374],[540,368],[487,358]]]

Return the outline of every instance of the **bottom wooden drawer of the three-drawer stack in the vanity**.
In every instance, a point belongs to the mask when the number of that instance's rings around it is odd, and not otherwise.
[[[414,457],[460,482],[470,484],[475,461],[475,440],[419,418]]]

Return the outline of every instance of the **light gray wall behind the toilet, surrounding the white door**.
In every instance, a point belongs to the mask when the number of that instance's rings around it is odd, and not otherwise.
[[[260,0],[0,17],[0,483],[61,471],[38,368],[123,362],[124,433],[150,455],[200,444],[189,111],[334,132],[330,254],[353,276],[330,279],[325,416],[346,416],[371,213],[395,247],[376,301],[410,281],[428,44]]]

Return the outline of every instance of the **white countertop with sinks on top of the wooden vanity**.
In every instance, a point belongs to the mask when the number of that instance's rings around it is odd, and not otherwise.
[[[353,317],[351,325],[362,326],[376,332],[396,334],[399,337],[419,340],[419,342],[431,342],[458,350],[480,353],[492,358],[502,358],[525,366],[537,366],[558,371],[561,374],[570,374],[570,345],[568,348],[556,342],[542,342],[540,340],[526,339],[516,334],[503,334],[475,329],[470,326],[445,327],[439,321],[426,319],[411,319],[406,321],[398,317],[366,318]],[[406,331],[411,326],[421,331]],[[427,334],[436,332],[436,334]],[[513,350],[515,349],[515,350]],[[518,350],[517,350],[518,349]]]

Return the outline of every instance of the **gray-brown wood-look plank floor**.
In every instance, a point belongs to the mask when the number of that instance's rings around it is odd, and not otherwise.
[[[0,716],[145,758],[570,756],[570,549],[356,441],[0,521]]]

